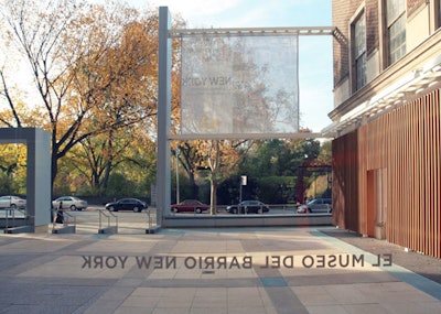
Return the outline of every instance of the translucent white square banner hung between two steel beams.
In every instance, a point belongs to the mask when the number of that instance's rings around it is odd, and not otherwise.
[[[298,36],[182,36],[181,132],[299,129]]]

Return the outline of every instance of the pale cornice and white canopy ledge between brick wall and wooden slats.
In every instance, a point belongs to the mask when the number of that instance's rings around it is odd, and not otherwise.
[[[373,117],[385,108],[390,110],[404,100],[415,98],[422,88],[439,84],[440,52],[439,30],[332,110],[329,117],[333,123],[322,133],[330,136],[330,132],[354,129],[362,118]]]

